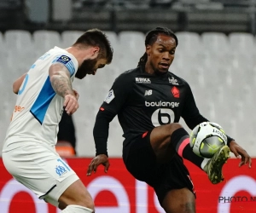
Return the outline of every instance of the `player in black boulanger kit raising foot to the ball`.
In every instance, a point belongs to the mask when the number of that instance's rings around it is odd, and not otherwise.
[[[193,153],[189,134],[178,124],[179,118],[191,130],[207,118],[196,107],[189,84],[168,72],[177,37],[171,30],[157,27],[148,32],[145,45],[146,52],[137,68],[116,78],[96,116],[96,158],[87,175],[100,164],[108,171],[108,127],[118,115],[125,137],[123,159],[127,170],[154,187],[167,213],[195,212],[195,192],[183,158],[206,171],[213,184],[223,180],[222,167],[230,151],[241,156],[240,165],[248,163],[251,167],[251,158],[229,136],[228,146],[220,148],[210,160]]]

